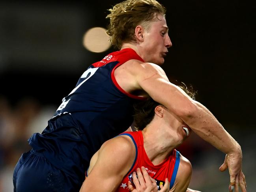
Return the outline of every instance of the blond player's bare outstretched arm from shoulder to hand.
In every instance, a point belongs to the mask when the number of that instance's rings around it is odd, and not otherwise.
[[[181,117],[198,136],[228,155],[226,165],[230,172],[230,182],[235,182],[241,172],[241,147],[215,116],[204,105],[192,100],[181,88],[170,83],[158,65],[133,62],[127,70],[135,78],[133,83],[136,89],[146,91],[155,101]]]

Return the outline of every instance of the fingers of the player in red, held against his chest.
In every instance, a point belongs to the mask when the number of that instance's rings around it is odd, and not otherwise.
[[[133,172],[133,183],[135,185],[132,185],[131,181],[128,181],[128,189],[132,192],[157,192],[157,184],[155,179],[152,179],[148,175],[148,171],[142,167],[137,168],[136,173]],[[137,176],[136,176],[137,175]],[[164,186],[160,186],[161,192],[167,192],[170,188],[170,183],[168,182],[168,179],[166,179]]]

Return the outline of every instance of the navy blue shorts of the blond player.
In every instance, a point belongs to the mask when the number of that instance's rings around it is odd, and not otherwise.
[[[34,149],[22,154],[13,172],[14,192],[79,192],[81,185]]]

